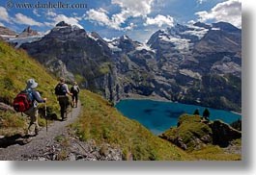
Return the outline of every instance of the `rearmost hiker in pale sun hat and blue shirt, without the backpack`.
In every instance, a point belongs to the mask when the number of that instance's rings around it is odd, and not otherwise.
[[[32,94],[32,106],[29,110],[25,111],[24,113],[30,116],[30,124],[28,126],[28,135],[30,136],[37,136],[39,134],[39,123],[38,123],[38,103],[45,103],[46,98],[42,98],[39,91],[36,90],[38,87],[38,83],[35,82],[34,79],[27,80],[27,87],[25,91],[31,92]],[[34,132],[35,134],[32,135],[32,126],[35,125]]]

